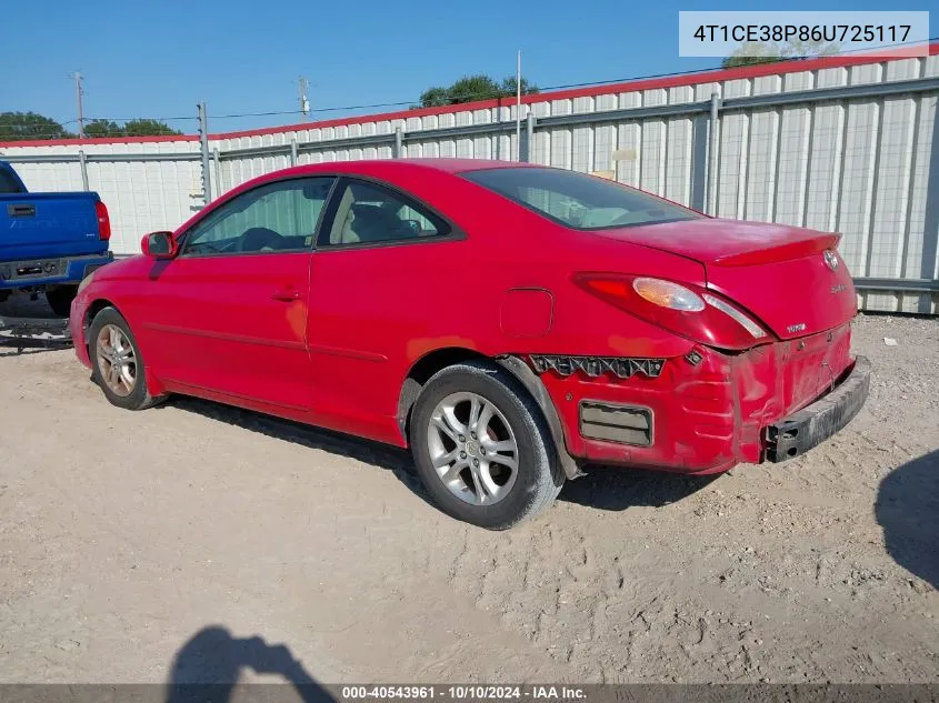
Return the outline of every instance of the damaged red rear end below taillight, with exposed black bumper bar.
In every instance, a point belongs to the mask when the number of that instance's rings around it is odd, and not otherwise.
[[[850,338],[845,324],[737,354],[690,345],[629,378],[590,358],[529,361],[577,463],[708,474],[790,459],[847,425],[870,378]]]

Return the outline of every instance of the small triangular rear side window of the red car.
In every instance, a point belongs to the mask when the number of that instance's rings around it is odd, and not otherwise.
[[[342,191],[328,235],[320,235],[320,245],[369,244],[449,232],[446,222],[410,199],[381,185],[351,181]]]

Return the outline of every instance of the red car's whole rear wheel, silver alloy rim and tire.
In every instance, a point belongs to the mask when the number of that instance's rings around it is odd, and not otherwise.
[[[506,530],[547,510],[563,485],[541,411],[492,364],[433,375],[414,403],[410,434],[427,491],[458,520]]]

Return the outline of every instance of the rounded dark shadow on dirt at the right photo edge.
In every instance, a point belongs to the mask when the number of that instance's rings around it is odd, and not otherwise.
[[[891,471],[875,511],[890,556],[939,589],[939,451]]]

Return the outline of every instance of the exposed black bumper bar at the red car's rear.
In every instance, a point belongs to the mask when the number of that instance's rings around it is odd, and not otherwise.
[[[848,376],[828,395],[767,426],[767,460],[782,462],[821,444],[853,420],[869,390],[870,361],[858,356]]]

